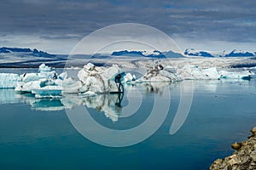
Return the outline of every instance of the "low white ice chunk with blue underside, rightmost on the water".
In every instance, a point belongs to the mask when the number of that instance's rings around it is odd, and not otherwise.
[[[220,78],[250,80],[254,74],[252,71],[219,71]]]

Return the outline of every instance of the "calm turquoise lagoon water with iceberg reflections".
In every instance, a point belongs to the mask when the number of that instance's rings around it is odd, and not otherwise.
[[[29,94],[15,94],[13,89],[1,89],[0,167],[208,169],[213,160],[230,155],[233,152],[230,144],[247,139],[248,131],[256,126],[256,81],[254,78],[251,81],[190,81],[189,85],[191,83],[193,100],[189,114],[183,116],[182,126],[172,135],[169,131],[181,99],[181,82],[161,84],[160,88],[159,85],[130,87],[131,91],[126,91],[121,102],[118,94],[34,99]],[[165,95],[163,87],[171,94]],[[147,139],[126,147],[97,144],[79,133],[70,120],[70,111],[84,105],[90,117],[103,127],[131,129],[148,119],[156,99],[163,105],[170,101],[164,122]],[[125,108],[129,105],[132,108],[139,101],[137,111],[131,115],[125,112]],[[164,109],[157,109],[162,116]],[[95,133],[98,132],[95,130]],[[137,134],[131,135],[131,139],[136,137]],[[104,140],[111,140],[108,133],[102,135]]]

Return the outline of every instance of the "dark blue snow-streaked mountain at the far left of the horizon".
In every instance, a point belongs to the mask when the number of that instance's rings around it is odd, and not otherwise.
[[[11,55],[25,55],[25,56],[37,56],[37,57],[45,57],[45,58],[51,58],[51,57],[55,57],[54,54],[48,54],[44,51],[40,51],[36,48],[34,48],[33,50],[30,48],[7,48],[7,47],[3,47],[0,48],[0,54],[11,54]]]

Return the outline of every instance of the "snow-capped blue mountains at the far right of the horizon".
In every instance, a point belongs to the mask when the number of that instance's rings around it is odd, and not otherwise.
[[[207,51],[207,50],[196,50],[195,48],[188,48],[184,51],[185,55],[189,56],[200,56],[200,57],[253,57],[256,56],[255,52],[247,52],[241,50],[232,51]]]

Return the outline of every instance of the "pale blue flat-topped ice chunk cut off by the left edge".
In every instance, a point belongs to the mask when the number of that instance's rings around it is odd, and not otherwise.
[[[15,88],[16,83],[20,81],[18,74],[0,73],[0,88]]]

